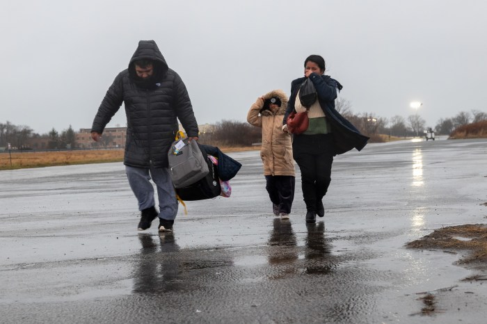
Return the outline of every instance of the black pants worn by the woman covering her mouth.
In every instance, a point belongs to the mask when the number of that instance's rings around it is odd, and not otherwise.
[[[293,156],[301,170],[301,188],[308,211],[317,211],[331,181],[335,148],[331,134],[294,135]]]

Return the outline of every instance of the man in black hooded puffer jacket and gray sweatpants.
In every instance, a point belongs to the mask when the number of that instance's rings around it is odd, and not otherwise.
[[[199,131],[186,86],[168,67],[153,40],[138,42],[129,68],[115,77],[93,121],[93,140],[100,140],[122,102],[127,115],[124,164],[141,211],[138,229],[149,228],[159,216],[159,232],[172,231],[177,200],[168,170],[168,150],[179,129],[177,119],[189,140],[198,140]],[[150,179],[157,185],[159,213]]]

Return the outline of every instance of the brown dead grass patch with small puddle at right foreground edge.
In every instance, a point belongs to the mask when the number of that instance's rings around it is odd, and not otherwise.
[[[468,255],[460,259],[458,264],[474,268],[487,268],[487,226],[484,224],[467,224],[436,229],[429,235],[407,243],[406,247],[449,251],[468,250]]]

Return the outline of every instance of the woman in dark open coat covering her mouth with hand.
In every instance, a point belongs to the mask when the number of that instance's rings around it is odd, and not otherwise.
[[[355,147],[360,151],[369,139],[363,136],[348,120],[335,110],[335,99],[342,85],[324,75],[325,60],[319,55],[306,58],[305,76],[292,81],[291,97],[287,104],[282,130],[287,131],[287,116],[308,110],[310,125],[293,139],[294,160],[301,170],[301,186],[306,204],[306,222],[316,222],[316,216],[324,217],[323,197],[331,181],[333,156],[348,152]],[[305,79],[312,81],[317,90],[316,101],[303,106],[299,90]]]

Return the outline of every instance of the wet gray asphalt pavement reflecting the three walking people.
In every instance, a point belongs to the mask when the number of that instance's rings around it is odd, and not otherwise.
[[[174,234],[136,231],[122,163],[0,171],[2,323],[485,323],[460,254],[404,244],[487,218],[487,140],[337,156],[326,216],[273,216],[257,151],[232,197],[187,202]],[[484,273],[485,275],[485,273]],[[453,287],[453,288],[452,288]],[[421,315],[420,298],[436,311]]]

